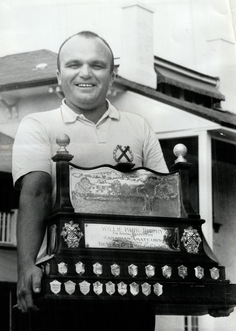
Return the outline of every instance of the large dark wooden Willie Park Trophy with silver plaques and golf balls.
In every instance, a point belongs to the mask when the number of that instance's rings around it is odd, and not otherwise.
[[[190,203],[184,145],[164,174],[132,169],[132,150],[120,145],[117,166],[73,165],[69,142],[59,136],[52,158],[57,197],[46,220],[48,257],[38,263],[41,302],[148,304],[165,315],[236,305],[236,285],[214,260]]]

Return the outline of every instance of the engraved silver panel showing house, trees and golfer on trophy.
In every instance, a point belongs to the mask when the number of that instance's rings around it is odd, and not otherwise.
[[[122,144],[117,146],[125,148]],[[121,150],[116,151],[117,146],[114,155],[117,152],[118,160]],[[133,149],[126,145],[120,162],[127,161],[125,154],[132,160],[129,147]],[[70,166],[69,170],[75,213],[94,213],[96,209],[97,214],[181,216],[178,173],[161,175],[145,169],[121,173],[108,166],[87,170]]]

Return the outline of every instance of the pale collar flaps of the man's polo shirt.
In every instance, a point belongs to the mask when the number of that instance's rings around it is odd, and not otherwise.
[[[109,100],[106,99],[106,102],[108,105],[108,109],[105,112],[105,114],[102,116],[102,118],[110,117],[119,120],[120,119],[119,111],[114,106],[111,105]],[[65,99],[62,100],[61,114],[65,123],[72,123],[76,121],[77,118],[83,118],[83,119],[85,118],[84,115],[78,115],[72,109],[70,109],[66,105]]]

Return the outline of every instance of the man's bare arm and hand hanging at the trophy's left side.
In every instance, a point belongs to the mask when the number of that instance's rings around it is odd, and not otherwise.
[[[51,177],[43,171],[29,172],[21,179],[17,220],[18,307],[36,310],[33,292],[41,290],[42,271],[35,260],[41,247],[45,224],[51,208]],[[33,291],[33,292],[32,292]]]

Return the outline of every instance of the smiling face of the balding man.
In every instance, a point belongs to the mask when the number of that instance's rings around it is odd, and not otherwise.
[[[67,106],[76,111],[105,105],[108,87],[115,79],[110,65],[110,50],[98,37],[69,39],[61,49],[57,71]]]

